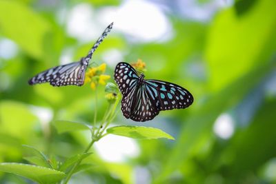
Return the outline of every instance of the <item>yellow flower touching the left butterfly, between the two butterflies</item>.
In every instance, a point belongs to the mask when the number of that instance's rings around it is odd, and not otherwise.
[[[106,85],[106,81],[110,79],[110,75],[103,74],[106,72],[106,63],[98,67],[89,68],[86,72],[84,83],[90,83],[92,90],[95,90],[98,84]]]

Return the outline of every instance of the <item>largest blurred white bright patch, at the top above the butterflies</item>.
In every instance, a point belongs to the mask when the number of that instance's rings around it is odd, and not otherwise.
[[[172,26],[166,15],[148,1],[125,1],[119,8],[103,8],[99,14],[104,22],[112,17],[114,28],[135,41],[167,41],[172,37]]]

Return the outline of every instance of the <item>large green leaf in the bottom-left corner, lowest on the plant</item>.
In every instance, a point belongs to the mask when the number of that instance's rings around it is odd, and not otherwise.
[[[43,184],[57,183],[66,176],[64,172],[52,170],[48,167],[23,163],[0,163],[0,170],[17,174]]]

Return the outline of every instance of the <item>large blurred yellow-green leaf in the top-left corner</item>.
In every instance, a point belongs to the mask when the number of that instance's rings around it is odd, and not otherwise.
[[[12,16],[7,19],[7,14]],[[43,57],[43,41],[50,31],[50,25],[28,6],[18,1],[0,1],[0,27],[1,33],[14,40],[32,57]]]

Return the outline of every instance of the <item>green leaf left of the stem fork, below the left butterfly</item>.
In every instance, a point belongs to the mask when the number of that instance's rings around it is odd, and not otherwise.
[[[54,121],[53,124],[55,125],[57,132],[59,134],[64,132],[72,132],[72,131],[79,131],[79,130],[91,130],[89,125],[85,123],[79,122],[72,122],[72,121]]]

